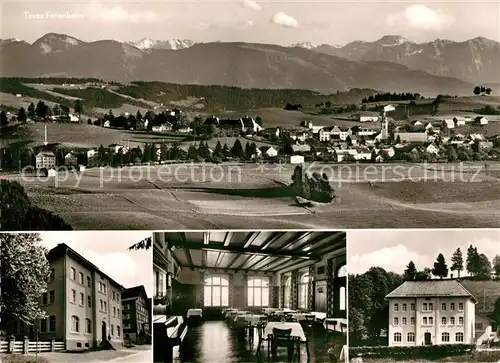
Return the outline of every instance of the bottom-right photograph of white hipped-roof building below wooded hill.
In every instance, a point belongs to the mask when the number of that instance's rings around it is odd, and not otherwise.
[[[349,357],[500,361],[500,231],[349,231]]]

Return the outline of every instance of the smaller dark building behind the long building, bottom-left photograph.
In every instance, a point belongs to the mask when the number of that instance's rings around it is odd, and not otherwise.
[[[135,286],[122,293],[123,334],[132,343],[144,343],[151,335],[151,300],[144,286]],[[142,338],[142,340],[141,340]]]

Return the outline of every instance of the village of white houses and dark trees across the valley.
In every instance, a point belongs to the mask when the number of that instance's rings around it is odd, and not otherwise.
[[[48,106],[45,106],[48,107]],[[110,111],[87,123],[106,129],[123,129],[154,135],[158,142],[131,146],[113,143],[94,148],[63,148],[57,134],[50,134],[53,123],[82,123],[81,117],[66,110],[63,115],[39,113],[25,123],[44,122],[45,140],[26,153],[3,150],[0,153],[4,169],[8,165],[33,167],[46,175],[55,175],[58,167],[77,170],[95,166],[163,164],[171,162],[259,162],[290,163],[382,163],[382,162],[455,162],[500,159],[500,135],[486,136],[490,123],[486,116],[422,116],[413,120],[396,120],[391,113],[398,105],[379,107],[381,112],[359,111],[350,116],[354,126],[346,122],[315,125],[303,120],[295,127],[263,127],[260,117],[244,116],[222,119],[195,117],[187,122],[179,109],[165,109],[157,114],[148,111],[144,116],[124,113],[115,117]],[[75,106],[77,111],[78,106]],[[36,110],[40,109],[37,105]],[[294,112],[294,111],[289,111]],[[31,112],[33,114],[33,112]],[[5,113],[4,113],[5,114]],[[23,111],[18,113],[23,114]],[[7,113],[5,117],[8,117]],[[306,114],[304,114],[306,118]],[[11,116],[11,120],[16,116]],[[335,121],[332,120],[332,123]],[[491,121],[496,122],[496,121]],[[366,126],[365,126],[366,125]],[[48,135],[48,133],[50,135]],[[165,139],[162,137],[165,136]],[[190,140],[172,142],[169,137]],[[215,146],[209,146],[211,140]],[[165,141],[166,140],[166,141]],[[228,145],[227,140],[234,140]],[[224,143],[224,141],[226,141]],[[214,144],[213,142],[211,142]],[[12,160],[18,159],[18,160]]]

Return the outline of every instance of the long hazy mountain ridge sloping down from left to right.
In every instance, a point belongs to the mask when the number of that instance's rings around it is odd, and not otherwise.
[[[70,38],[68,45],[69,38],[51,34],[33,45],[0,44],[2,75],[293,88],[323,93],[371,88],[435,95],[470,94],[472,89],[471,84],[456,78],[438,77],[394,63],[355,61],[300,47],[216,42],[179,50],[142,51],[111,40],[85,43]],[[57,51],[48,51],[49,48]]]

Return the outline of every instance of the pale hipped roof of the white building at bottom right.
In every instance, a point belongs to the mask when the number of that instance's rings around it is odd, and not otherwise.
[[[457,280],[405,281],[386,298],[400,297],[470,297],[476,298]]]

